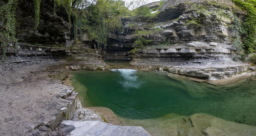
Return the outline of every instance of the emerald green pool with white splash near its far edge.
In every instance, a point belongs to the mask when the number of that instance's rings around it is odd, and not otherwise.
[[[133,69],[71,74],[84,107],[110,108],[126,125],[163,122],[195,113],[256,125],[255,78],[230,86],[213,86]]]

